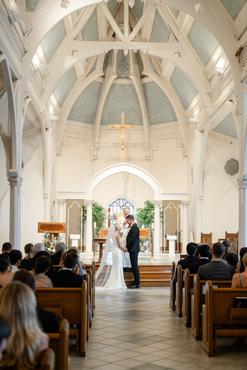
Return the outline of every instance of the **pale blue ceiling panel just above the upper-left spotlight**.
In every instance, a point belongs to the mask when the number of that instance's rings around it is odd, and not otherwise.
[[[40,45],[46,58],[46,63],[48,64],[53,55],[56,53],[56,50],[59,48],[59,45],[66,36],[66,28],[63,19],[46,34],[46,36],[41,41]]]

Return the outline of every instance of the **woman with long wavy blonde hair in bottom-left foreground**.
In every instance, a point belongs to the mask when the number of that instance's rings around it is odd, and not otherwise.
[[[0,293],[0,314],[11,328],[1,367],[35,369],[41,351],[49,347],[36,313],[36,298],[31,288],[20,281],[4,287]]]

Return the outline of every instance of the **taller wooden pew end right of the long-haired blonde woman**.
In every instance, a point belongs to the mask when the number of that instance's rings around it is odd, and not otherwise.
[[[55,369],[68,370],[70,365],[69,321],[66,319],[60,321],[59,333],[46,334],[49,337],[49,347],[55,352]]]

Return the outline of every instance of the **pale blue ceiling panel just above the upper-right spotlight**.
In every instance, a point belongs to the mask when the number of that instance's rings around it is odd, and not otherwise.
[[[192,23],[187,38],[206,67],[220,44],[198,20]]]

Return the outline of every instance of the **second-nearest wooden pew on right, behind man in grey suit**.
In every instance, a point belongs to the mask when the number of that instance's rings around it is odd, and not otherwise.
[[[194,276],[194,295],[191,296],[191,329],[190,333],[196,340],[200,340],[200,314],[205,303],[205,294],[203,294],[203,286],[207,280],[200,280],[198,274]],[[219,288],[230,288],[231,280],[212,281],[213,285]]]

